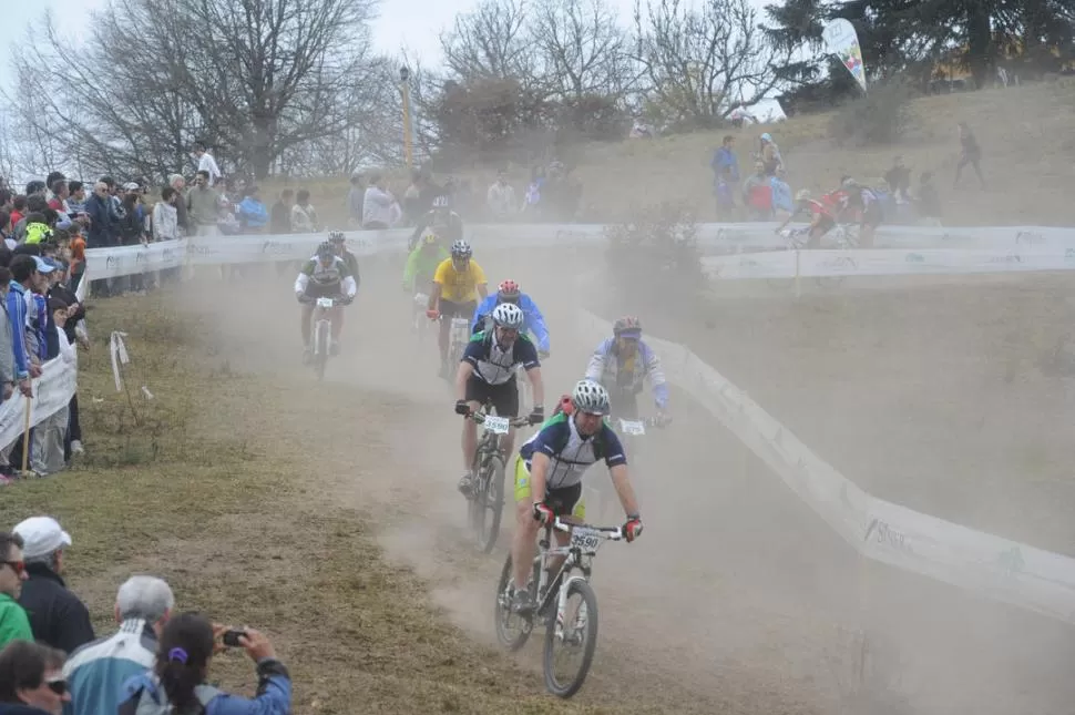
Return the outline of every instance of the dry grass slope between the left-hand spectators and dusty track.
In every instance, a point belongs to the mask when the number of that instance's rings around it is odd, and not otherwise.
[[[264,627],[291,668],[296,713],[655,712],[560,703],[540,676],[450,625],[409,569],[382,560],[378,514],[331,502],[340,464],[306,457],[318,440],[348,443],[326,421],[371,423],[386,400],[237,375],[205,325],[173,311],[175,299],[96,305],[98,344],[80,378],[88,459],[7,488],[0,504],[0,524],[51,513],[70,530],[65,575],[99,633],[114,627],[122,580],[150,572],[173,584],[181,610]],[[112,329],[130,334],[137,422],[102,351]],[[154,400],[139,395],[143,384]],[[218,661],[214,677],[252,692],[245,656]]]

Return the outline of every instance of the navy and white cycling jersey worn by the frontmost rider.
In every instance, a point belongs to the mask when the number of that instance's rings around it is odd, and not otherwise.
[[[604,459],[610,468],[627,463],[627,453],[607,422],[602,421],[601,429],[592,437],[583,437],[575,420],[563,412],[545,420],[541,430],[520,448],[519,456],[528,471],[536,452],[549,457],[545,488],[550,490],[579,484],[583,473],[598,459]]]

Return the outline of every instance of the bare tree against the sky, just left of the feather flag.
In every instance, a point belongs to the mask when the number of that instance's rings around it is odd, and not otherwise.
[[[766,40],[748,0],[704,0],[698,10],[651,0],[646,9],[644,24],[635,8],[637,60],[666,119],[708,125],[777,85],[786,52]]]

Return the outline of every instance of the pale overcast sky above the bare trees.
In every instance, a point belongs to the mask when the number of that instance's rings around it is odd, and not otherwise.
[[[60,29],[73,39],[82,39],[89,12],[101,9],[108,0],[0,0],[8,38],[8,52],[0,62],[0,82],[11,81],[10,52],[18,52],[27,23],[37,21],[45,8],[51,8]],[[759,10],[777,0],[750,0]],[[608,0],[621,17],[629,21],[634,0]],[[373,23],[373,43],[378,52],[395,53],[406,48],[408,53],[426,64],[440,59],[438,34],[451,25],[455,13],[473,8],[475,0],[381,0],[378,19]],[[687,0],[686,4],[693,4]]]

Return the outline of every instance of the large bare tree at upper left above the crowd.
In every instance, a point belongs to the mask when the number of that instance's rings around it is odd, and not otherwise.
[[[41,98],[101,168],[162,175],[202,140],[263,177],[287,150],[346,129],[336,103],[368,71],[372,2],[110,0],[78,62],[47,18],[13,61],[32,83],[17,99]]]

